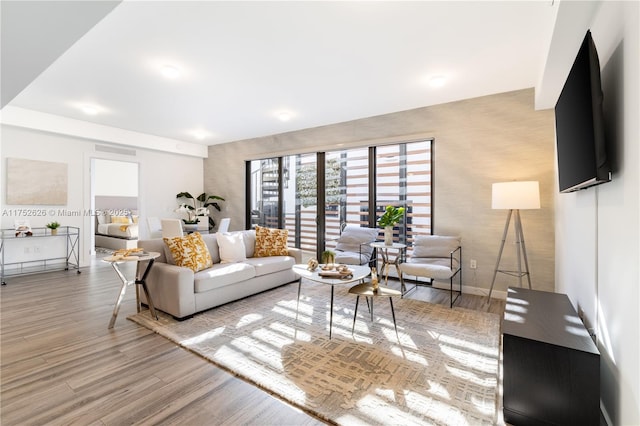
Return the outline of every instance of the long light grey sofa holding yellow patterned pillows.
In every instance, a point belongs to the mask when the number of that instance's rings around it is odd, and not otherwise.
[[[213,266],[199,272],[173,263],[171,251],[162,238],[139,240],[138,247],[160,253],[147,277],[147,286],[156,309],[184,319],[213,307],[260,293],[298,279],[291,267],[302,263],[302,252],[287,248],[288,256],[254,257],[256,234],[242,235],[246,260],[221,263],[218,234],[202,235]],[[147,303],[141,292],[143,303]]]

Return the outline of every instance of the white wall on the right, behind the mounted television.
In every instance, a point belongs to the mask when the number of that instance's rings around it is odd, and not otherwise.
[[[610,183],[555,196],[556,291],[595,329],[602,408],[614,425],[640,424],[639,15],[638,2],[602,2],[571,35],[590,28],[598,49],[614,172]]]

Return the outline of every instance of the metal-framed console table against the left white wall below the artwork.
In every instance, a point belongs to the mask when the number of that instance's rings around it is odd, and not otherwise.
[[[0,230],[0,279],[73,267],[80,273],[80,228],[61,226],[31,228],[31,235],[16,235],[15,229]]]

